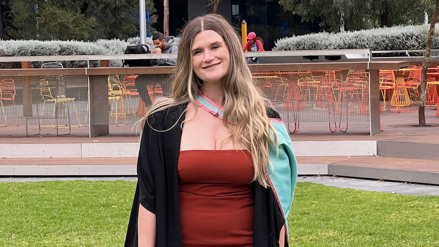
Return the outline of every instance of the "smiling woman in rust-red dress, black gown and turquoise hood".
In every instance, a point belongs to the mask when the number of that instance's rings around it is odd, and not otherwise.
[[[230,24],[189,21],[172,95],[144,119],[125,246],[288,246],[297,166],[265,103]]]

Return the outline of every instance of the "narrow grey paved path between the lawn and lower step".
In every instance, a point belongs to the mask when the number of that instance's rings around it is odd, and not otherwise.
[[[69,180],[127,180],[136,181],[136,177],[0,177],[0,182],[38,182]],[[370,179],[344,178],[334,176],[300,176],[298,182],[313,182],[340,188],[362,189],[400,195],[439,196],[439,185],[409,184],[405,182],[389,182]]]

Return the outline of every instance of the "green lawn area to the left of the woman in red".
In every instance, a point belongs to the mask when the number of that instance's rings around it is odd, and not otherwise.
[[[0,183],[0,246],[123,246],[135,183]]]

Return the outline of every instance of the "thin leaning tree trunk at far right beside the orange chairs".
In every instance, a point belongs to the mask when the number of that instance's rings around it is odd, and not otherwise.
[[[425,101],[427,96],[427,68],[429,66],[430,54],[431,54],[431,43],[433,41],[434,36],[434,25],[437,21],[437,15],[439,14],[439,0],[436,0],[436,5],[434,6],[434,13],[430,20],[430,28],[428,30],[427,43],[425,45],[425,56],[424,61],[422,62],[422,71],[421,71],[421,88],[420,92],[420,100],[419,100],[419,109],[418,109],[418,117],[419,117],[419,127],[425,127]]]

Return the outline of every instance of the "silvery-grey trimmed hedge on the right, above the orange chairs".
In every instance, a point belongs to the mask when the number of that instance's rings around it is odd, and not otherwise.
[[[361,49],[416,50],[424,49],[428,25],[394,26],[344,33],[317,33],[279,39],[273,50]],[[435,33],[439,29],[436,28]],[[439,49],[439,38],[433,39]]]

